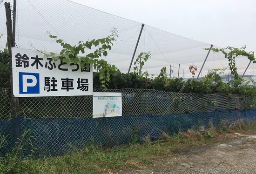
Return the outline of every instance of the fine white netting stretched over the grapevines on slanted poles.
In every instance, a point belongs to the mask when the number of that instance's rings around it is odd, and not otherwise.
[[[1,12],[5,11],[4,2],[0,2]],[[0,39],[0,49],[3,49],[6,44],[5,15],[0,16],[0,21],[0,32],[4,34],[3,38]],[[49,38],[47,32],[58,36],[71,45],[75,45],[80,40],[86,41],[107,37],[111,34],[113,27],[118,30],[119,37],[104,59],[111,64],[115,64],[121,72],[127,73],[141,30],[141,23],[67,0],[17,1],[17,47],[60,52],[60,45]],[[31,44],[34,48],[31,47]],[[198,67],[197,76],[208,53],[204,48],[209,47],[209,43],[192,40],[145,25],[135,58],[141,52],[150,51],[152,58],[147,61],[142,71],[158,75],[162,67],[167,67],[169,74],[170,66],[173,66],[172,77],[177,77],[178,65],[181,64],[180,77],[190,78],[189,65]],[[200,76],[206,75],[209,69],[228,67],[228,61],[224,59],[222,53],[211,52]],[[249,60],[243,58],[237,61],[239,73],[243,74]],[[133,67],[131,71],[133,71]],[[253,64],[250,65],[247,74],[254,74]]]

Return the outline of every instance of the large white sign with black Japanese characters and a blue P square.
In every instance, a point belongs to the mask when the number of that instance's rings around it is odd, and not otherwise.
[[[92,65],[54,61],[50,53],[12,48],[15,97],[74,96],[93,94]],[[60,54],[55,54],[58,56]]]

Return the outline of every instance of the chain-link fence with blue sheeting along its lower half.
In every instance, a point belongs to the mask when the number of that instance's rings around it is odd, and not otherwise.
[[[103,92],[95,89],[94,92]],[[87,143],[105,146],[128,144],[133,136],[138,142],[145,136],[159,138],[163,132],[174,134],[187,129],[214,126],[225,129],[238,120],[253,121],[256,112],[245,110],[244,98],[234,94],[180,94],[152,89],[113,89],[122,93],[122,116],[92,118],[92,96],[20,98],[21,115],[10,118],[10,90],[0,91],[0,133],[13,129],[19,134],[31,129],[36,137],[37,154],[61,154]],[[249,101],[249,99],[248,99]],[[15,126],[14,126],[15,125]],[[1,148],[1,154],[9,150]]]

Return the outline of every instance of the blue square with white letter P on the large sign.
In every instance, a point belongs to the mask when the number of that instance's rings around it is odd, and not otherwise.
[[[39,74],[19,72],[20,94],[40,94]]]

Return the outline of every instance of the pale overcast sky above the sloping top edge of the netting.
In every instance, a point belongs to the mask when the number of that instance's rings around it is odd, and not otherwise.
[[[256,0],[71,0],[219,47],[256,50]]]

